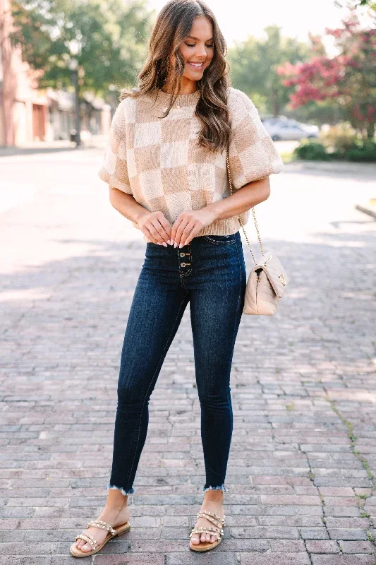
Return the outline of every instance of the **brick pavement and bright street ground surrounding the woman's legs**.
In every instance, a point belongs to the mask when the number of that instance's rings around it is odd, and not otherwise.
[[[1,215],[1,565],[73,563],[68,547],[106,496],[145,242],[109,206],[99,157],[2,160],[8,186],[16,166],[36,192]],[[150,401],[133,527],[87,561],[375,564],[376,224],[353,209],[372,186],[286,167],[260,206],[291,285],[276,316],[241,321],[221,545],[188,550],[205,479],[188,307]]]

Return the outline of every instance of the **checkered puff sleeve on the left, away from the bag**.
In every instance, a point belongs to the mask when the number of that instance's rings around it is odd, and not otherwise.
[[[112,118],[107,147],[98,175],[109,186],[133,194],[127,167],[125,102],[126,100],[120,102]]]

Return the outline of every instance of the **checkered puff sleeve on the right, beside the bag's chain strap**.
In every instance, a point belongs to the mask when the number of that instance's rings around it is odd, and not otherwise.
[[[228,107],[229,166],[234,189],[281,172],[284,163],[252,100],[241,90],[230,88]]]

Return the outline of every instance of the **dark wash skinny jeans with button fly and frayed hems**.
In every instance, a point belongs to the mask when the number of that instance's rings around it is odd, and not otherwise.
[[[134,492],[150,395],[190,302],[206,473],[203,490],[227,490],[224,480],[233,429],[230,371],[245,285],[239,232],[195,237],[180,249],[146,244],[121,352],[108,489]]]

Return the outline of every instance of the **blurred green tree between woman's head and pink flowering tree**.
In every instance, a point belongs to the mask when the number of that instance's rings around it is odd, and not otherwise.
[[[269,25],[265,33],[265,40],[250,36],[229,49],[231,79],[234,86],[248,93],[263,112],[277,116],[289,102],[289,89],[282,85],[277,69],[287,61],[298,64],[307,60],[310,46],[283,37],[277,25]],[[315,37],[311,40],[316,49],[321,48],[315,44]]]

